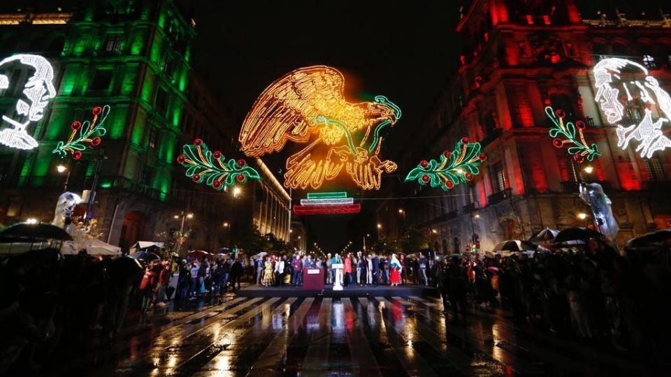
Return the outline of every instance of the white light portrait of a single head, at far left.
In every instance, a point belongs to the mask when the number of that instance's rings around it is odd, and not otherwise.
[[[21,120],[7,115],[2,116],[10,128],[0,130],[0,144],[10,148],[33,149],[38,146],[37,140],[26,132],[31,121],[38,121],[44,116],[44,108],[51,98],[56,96],[54,87],[54,68],[49,61],[39,55],[18,54],[0,61],[0,70],[7,64],[19,62],[31,66],[35,72],[24,85],[23,96],[16,102],[16,113]],[[8,89],[9,78],[0,74],[0,89]]]

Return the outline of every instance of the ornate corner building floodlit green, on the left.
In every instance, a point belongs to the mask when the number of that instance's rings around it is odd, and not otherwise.
[[[183,175],[174,161],[189,101],[194,26],[172,0],[91,1],[79,9],[0,14],[1,57],[47,58],[57,89],[44,117],[28,130],[39,147],[0,146],[0,223],[50,221],[68,172],[73,192],[91,188],[99,173],[93,212],[103,240],[112,244],[152,239],[175,228],[175,212],[197,213],[197,206],[185,208],[171,195]],[[0,92],[3,113],[15,105],[21,87]],[[94,106],[105,104],[111,106],[108,132],[97,150],[85,151],[79,161],[52,154],[59,140],[67,140],[73,121],[89,119]],[[59,174],[59,163],[68,170]]]

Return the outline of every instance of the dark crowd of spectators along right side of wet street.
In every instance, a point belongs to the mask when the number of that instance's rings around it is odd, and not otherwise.
[[[514,320],[616,350],[656,350],[671,334],[670,247],[627,250],[600,239],[546,253],[440,260],[431,274],[446,312],[509,309]],[[468,309],[468,310],[467,310]],[[461,318],[460,318],[461,316]],[[665,347],[668,349],[668,347]]]

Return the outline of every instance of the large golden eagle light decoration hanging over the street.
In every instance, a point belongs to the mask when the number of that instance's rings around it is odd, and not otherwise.
[[[287,158],[284,186],[317,189],[345,167],[364,190],[380,188],[383,172],[396,163],[380,160],[380,131],[401,119],[401,109],[384,96],[349,103],[345,77],[327,66],[298,68],[257,98],[247,113],[240,142],[248,156],[280,151],[287,141],[307,144]]]

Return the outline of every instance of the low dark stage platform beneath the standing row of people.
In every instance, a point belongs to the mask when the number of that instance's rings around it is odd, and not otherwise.
[[[438,296],[438,290],[433,287],[415,286],[348,286],[342,290],[333,290],[332,286],[326,285],[324,290],[305,290],[303,287],[264,287],[247,286],[236,292],[243,297],[396,297],[396,296]]]

